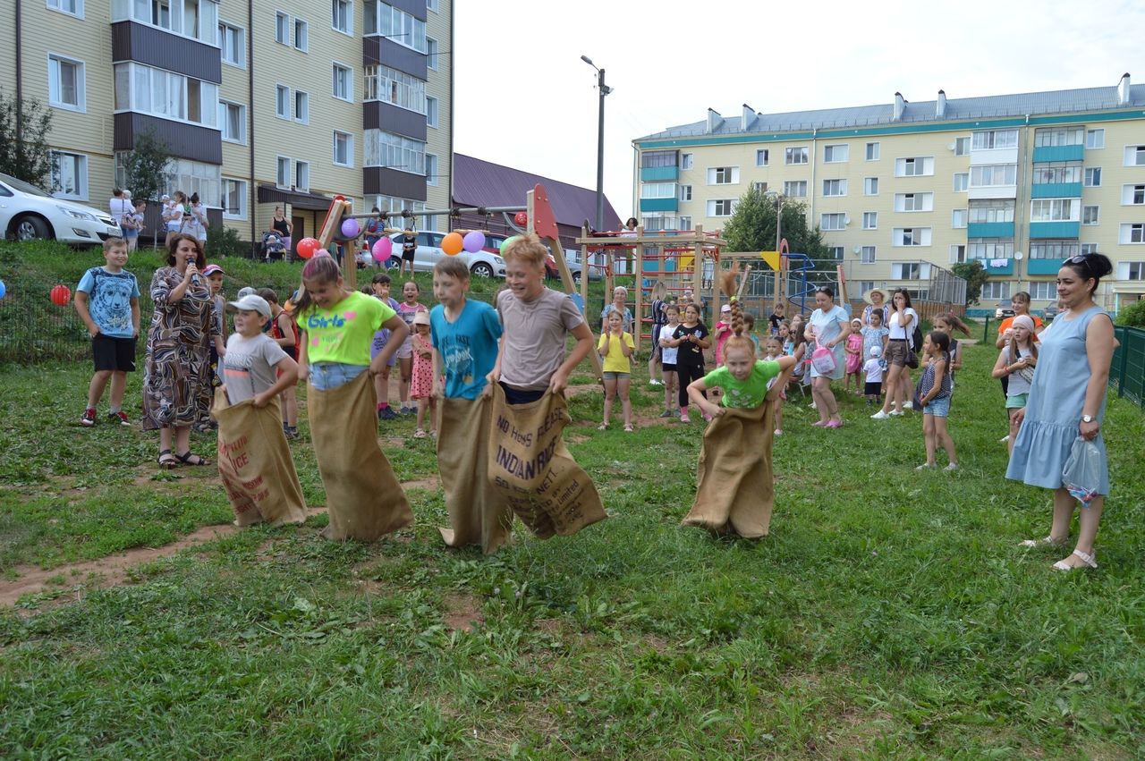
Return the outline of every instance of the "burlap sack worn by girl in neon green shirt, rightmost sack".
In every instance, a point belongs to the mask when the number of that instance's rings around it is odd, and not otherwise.
[[[748,539],[766,537],[775,504],[772,439],[780,383],[753,410],[729,407],[704,431],[696,501],[681,522]]]

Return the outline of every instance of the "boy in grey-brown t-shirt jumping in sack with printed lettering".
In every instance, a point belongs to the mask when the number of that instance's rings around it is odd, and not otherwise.
[[[571,296],[545,287],[547,251],[534,233],[502,251],[507,290],[497,294],[504,333],[493,387],[489,479],[534,534],[571,536],[602,521],[592,479],[569,455],[564,387],[592,351],[592,332]],[[576,346],[564,357],[566,336]]]

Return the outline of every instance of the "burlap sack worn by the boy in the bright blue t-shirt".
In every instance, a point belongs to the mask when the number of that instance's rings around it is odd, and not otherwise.
[[[481,545],[489,555],[508,541],[513,510],[485,473],[492,399],[439,399],[437,470],[445,491],[450,529],[439,529],[450,547]]]

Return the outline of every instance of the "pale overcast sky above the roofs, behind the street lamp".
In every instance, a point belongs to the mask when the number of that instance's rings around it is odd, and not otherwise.
[[[836,9],[837,8],[837,9]],[[739,116],[1145,84],[1145,3],[457,0],[455,149],[632,204],[632,140]],[[444,51],[445,45],[442,45]]]

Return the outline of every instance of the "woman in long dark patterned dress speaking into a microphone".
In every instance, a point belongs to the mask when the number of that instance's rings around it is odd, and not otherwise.
[[[177,233],[167,246],[167,267],[151,278],[155,316],[147,338],[143,428],[159,429],[159,465],[207,465],[191,453],[191,426],[211,393],[210,346],[220,334],[206,264],[195,236]],[[175,453],[172,453],[174,433]]]

